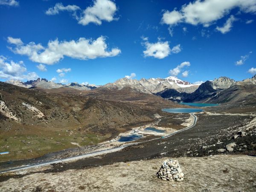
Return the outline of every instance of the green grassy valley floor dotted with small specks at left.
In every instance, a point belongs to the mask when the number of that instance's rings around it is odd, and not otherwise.
[[[0,155],[0,161],[41,157],[49,152],[78,147],[77,145],[71,144],[71,142],[78,143],[80,146],[95,145],[110,137],[110,135],[97,137],[97,134],[81,133],[76,130],[46,131],[44,134],[42,132],[35,133],[33,131],[30,131],[30,133],[27,131],[26,133],[27,134],[23,134],[22,132],[14,134],[6,132],[0,134],[0,152],[9,151],[9,154]],[[45,136],[43,137],[42,135]],[[15,139],[14,137],[17,138]],[[22,140],[26,141],[23,143]],[[60,144],[57,144],[57,142]],[[7,148],[7,146],[9,146],[9,148]],[[28,150],[32,150],[32,152]],[[18,151],[22,152],[18,153]]]

